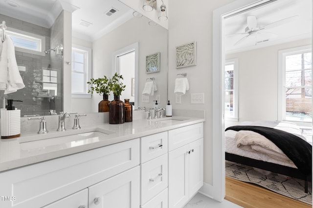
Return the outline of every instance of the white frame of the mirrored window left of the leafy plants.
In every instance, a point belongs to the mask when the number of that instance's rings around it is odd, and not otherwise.
[[[88,48],[88,47],[84,47],[84,46],[81,46],[81,45],[76,45],[76,44],[72,44],[72,50],[77,50],[77,51],[84,51],[87,53],[87,56],[86,56],[86,71],[82,74],[84,74],[85,76],[85,87],[84,87],[84,90],[85,90],[85,93],[73,93],[71,91],[71,97],[72,98],[91,98],[91,94],[88,93],[89,90],[91,90],[91,86],[89,84],[87,84],[87,82],[90,80],[91,78],[91,71],[92,71],[92,50],[91,48]],[[73,57],[72,57],[72,67],[74,66],[74,61],[73,61]],[[77,73],[77,72],[76,72]],[[72,74],[73,74],[73,70],[71,68],[71,77],[72,77]],[[72,88],[72,84],[71,84],[71,88]]]

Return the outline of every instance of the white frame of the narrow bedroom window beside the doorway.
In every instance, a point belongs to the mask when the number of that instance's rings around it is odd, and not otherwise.
[[[227,116],[226,113],[225,114],[225,120],[226,121],[238,121],[238,109],[239,109],[239,102],[238,102],[238,79],[239,79],[239,70],[238,70],[238,58],[232,58],[232,59],[227,59],[225,60],[225,65],[234,65],[234,73],[233,73],[233,79],[234,79],[234,85],[233,85],[233,116]],[[224,67],[224,73],[225,73],[225,67]],[[224,76],[224,84],[225,84],[225,76]],[[224,96],[225,96],[225,92],[229,91],[224,89]],[[224,102],[225,103],[225,102]]]

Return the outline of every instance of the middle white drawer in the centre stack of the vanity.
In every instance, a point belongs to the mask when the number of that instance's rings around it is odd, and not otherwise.
[[[141,165],[141,205],[168,186],[168,154]]]

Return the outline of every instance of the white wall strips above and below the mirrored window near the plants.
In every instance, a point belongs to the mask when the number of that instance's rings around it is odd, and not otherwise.
[[[80,45],[92,49],[92,42],[80,38],[72,37],[72,44]],[[92,75],[91,75],[92,76]],[[71,112],[72,113],[93,113],[98,111],[92,109],[91,98],[71,98]]]

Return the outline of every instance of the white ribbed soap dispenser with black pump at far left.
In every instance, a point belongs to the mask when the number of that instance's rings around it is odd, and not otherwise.
[[[21,136],[21,110],[15,109],[13,101],[8,99],[5,108],[1,108],[1,139],[10,139]]]

